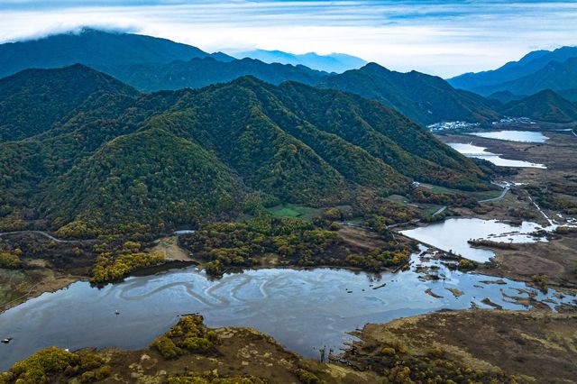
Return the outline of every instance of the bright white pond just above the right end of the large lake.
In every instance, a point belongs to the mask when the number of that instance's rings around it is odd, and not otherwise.
[[[473,248],[467,242],[468,240],[490,239],[494,242],[546,242],[545,237],[534,237],[530,234],[540,229],[544,228],[531,222],[523,222],[519,226],[513,226],[497,220],[457,218],[409,229],[401,233],[411,239],[426,242],[443,251],[453,251],[453,253],[459,254],[466,259],[485,262],[495,256],[495,253]]]

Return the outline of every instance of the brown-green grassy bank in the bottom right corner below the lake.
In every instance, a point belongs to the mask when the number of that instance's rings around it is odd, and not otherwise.
[[[470,382],[466,376],[471,372],[495,375],[494,381],[477,377],[472,382],[574,383],[577,378],[574,314],[437,312],[365,325],[355,335],[362,341],[345,353],[345,360],[361,370],[410,366],[405,372],[413,380],[424,369],[456,372],[453,382]]]

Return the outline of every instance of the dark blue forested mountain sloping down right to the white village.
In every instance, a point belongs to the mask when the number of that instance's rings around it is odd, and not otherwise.
[[[483,97],[454,89],[442,78],[417,71],[395,72],[375,63],[325,78],[317,87],[342,89],[380,101],[423,124],[455,120],[489,123],[499,116]]]

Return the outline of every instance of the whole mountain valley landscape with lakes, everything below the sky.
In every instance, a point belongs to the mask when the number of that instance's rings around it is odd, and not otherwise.
[[[572,52],[0,44],[0,383],[574,382]]]

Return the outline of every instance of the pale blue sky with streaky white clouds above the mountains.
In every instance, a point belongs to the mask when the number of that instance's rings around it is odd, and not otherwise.
[[[577,45],[577,0],[0,0],[0,42],[81,26],[206,51],[341,52],[449,78]]]

